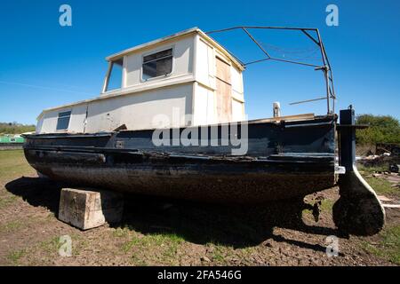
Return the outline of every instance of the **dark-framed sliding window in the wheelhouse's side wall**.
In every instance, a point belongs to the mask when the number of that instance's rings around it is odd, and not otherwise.
[[[172,72],[172,48],[143,57],[143,80]]]

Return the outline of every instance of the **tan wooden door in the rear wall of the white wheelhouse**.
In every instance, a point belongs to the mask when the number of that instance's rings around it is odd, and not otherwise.
[[[232,121],[232,83],[230,66],[227,62],[216,57],[216,87],[217,87],[217,116],[218,122]]]

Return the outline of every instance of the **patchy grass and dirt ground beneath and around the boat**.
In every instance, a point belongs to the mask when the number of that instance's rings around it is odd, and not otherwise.
[[[60,185],[36,177],[21,151],[0,152],[0,265],[398,265],[400,209],[372,237],[341,235],[332,223],[337,188],[316,222],[299,201],[251,208],[127,196],[121,224],[80,231],[57,219]],[[392,186],[395,188],[395,186]],[[398,186],[385,196],[399,200]],[[60,256],[60,237],[72,256]],[[339,256],[328,256],[328,237]],[[328,238],[328,239],[327,239]]]

